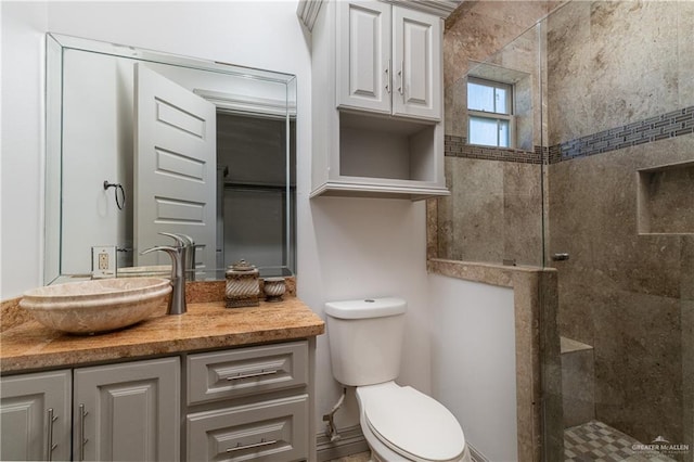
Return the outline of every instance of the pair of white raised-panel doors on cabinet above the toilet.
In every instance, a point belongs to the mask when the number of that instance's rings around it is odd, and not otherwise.
[[[441,23],[384,2],[338,2],[337,107],[440,120]]]

